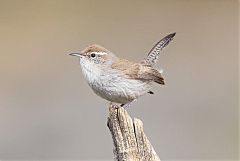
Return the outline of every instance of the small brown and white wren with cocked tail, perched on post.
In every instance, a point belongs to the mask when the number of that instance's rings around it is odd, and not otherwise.
[[[160,40],[140,63],[120,59],[99,45],[90,45],[70,55],[80,58],[83,75],[97,95],[110,102],[129,105],[139,96],[153,94],[153,82],[164,84],[161,71],[153,66],[174,36],[172,33]]]

